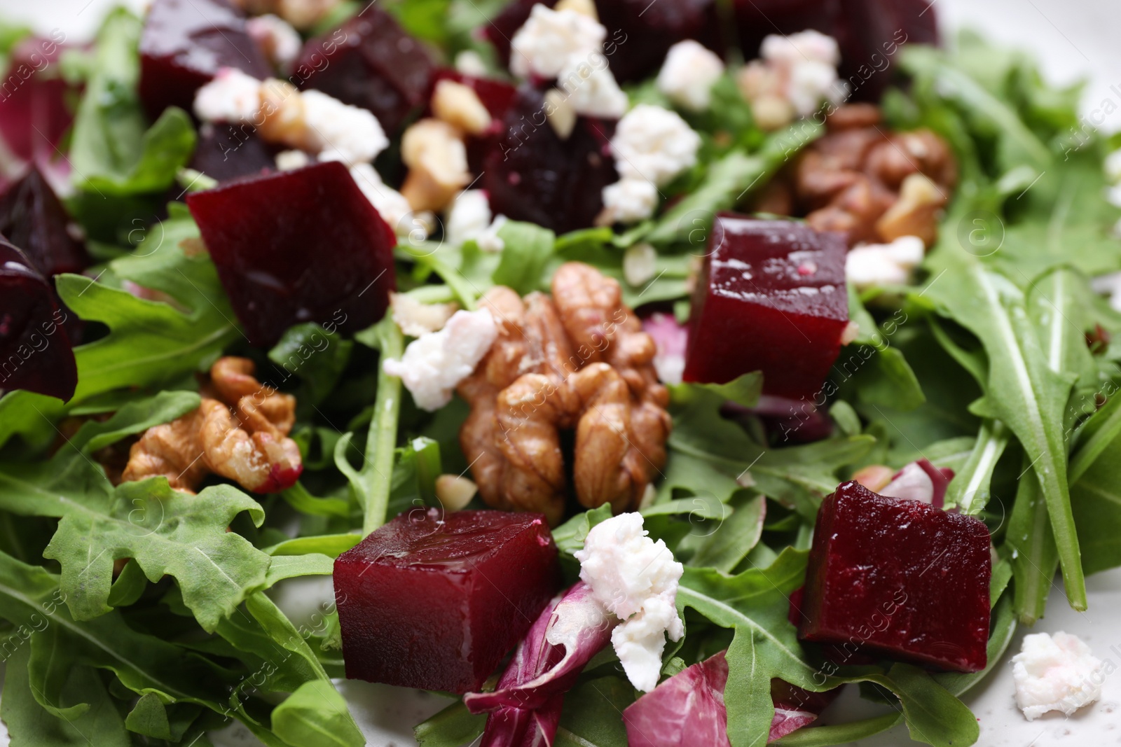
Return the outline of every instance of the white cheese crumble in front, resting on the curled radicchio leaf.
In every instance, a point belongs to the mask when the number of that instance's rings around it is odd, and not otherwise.
[[[647,536],[638,513],[593,526],[575,558],[595,599],[622,620],[611,632],[611,643],[627,679],[639,690],[654,690],[665,636],[679,641],[685,634],[675,606],[684,568],[664,541]]]

